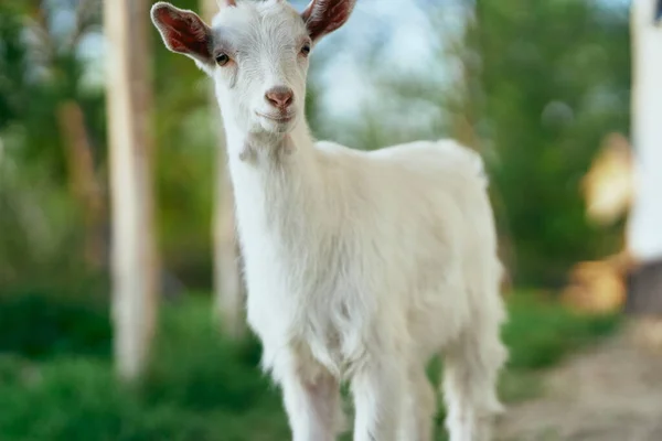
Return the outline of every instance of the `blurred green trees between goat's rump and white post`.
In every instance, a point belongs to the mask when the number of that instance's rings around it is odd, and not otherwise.
[[[619,250],[590,227],[579,185],[602,138],[629,133],[628,11],[594,1],[478,0],[480,136],[516,280],[558,286],[570,265]]]

